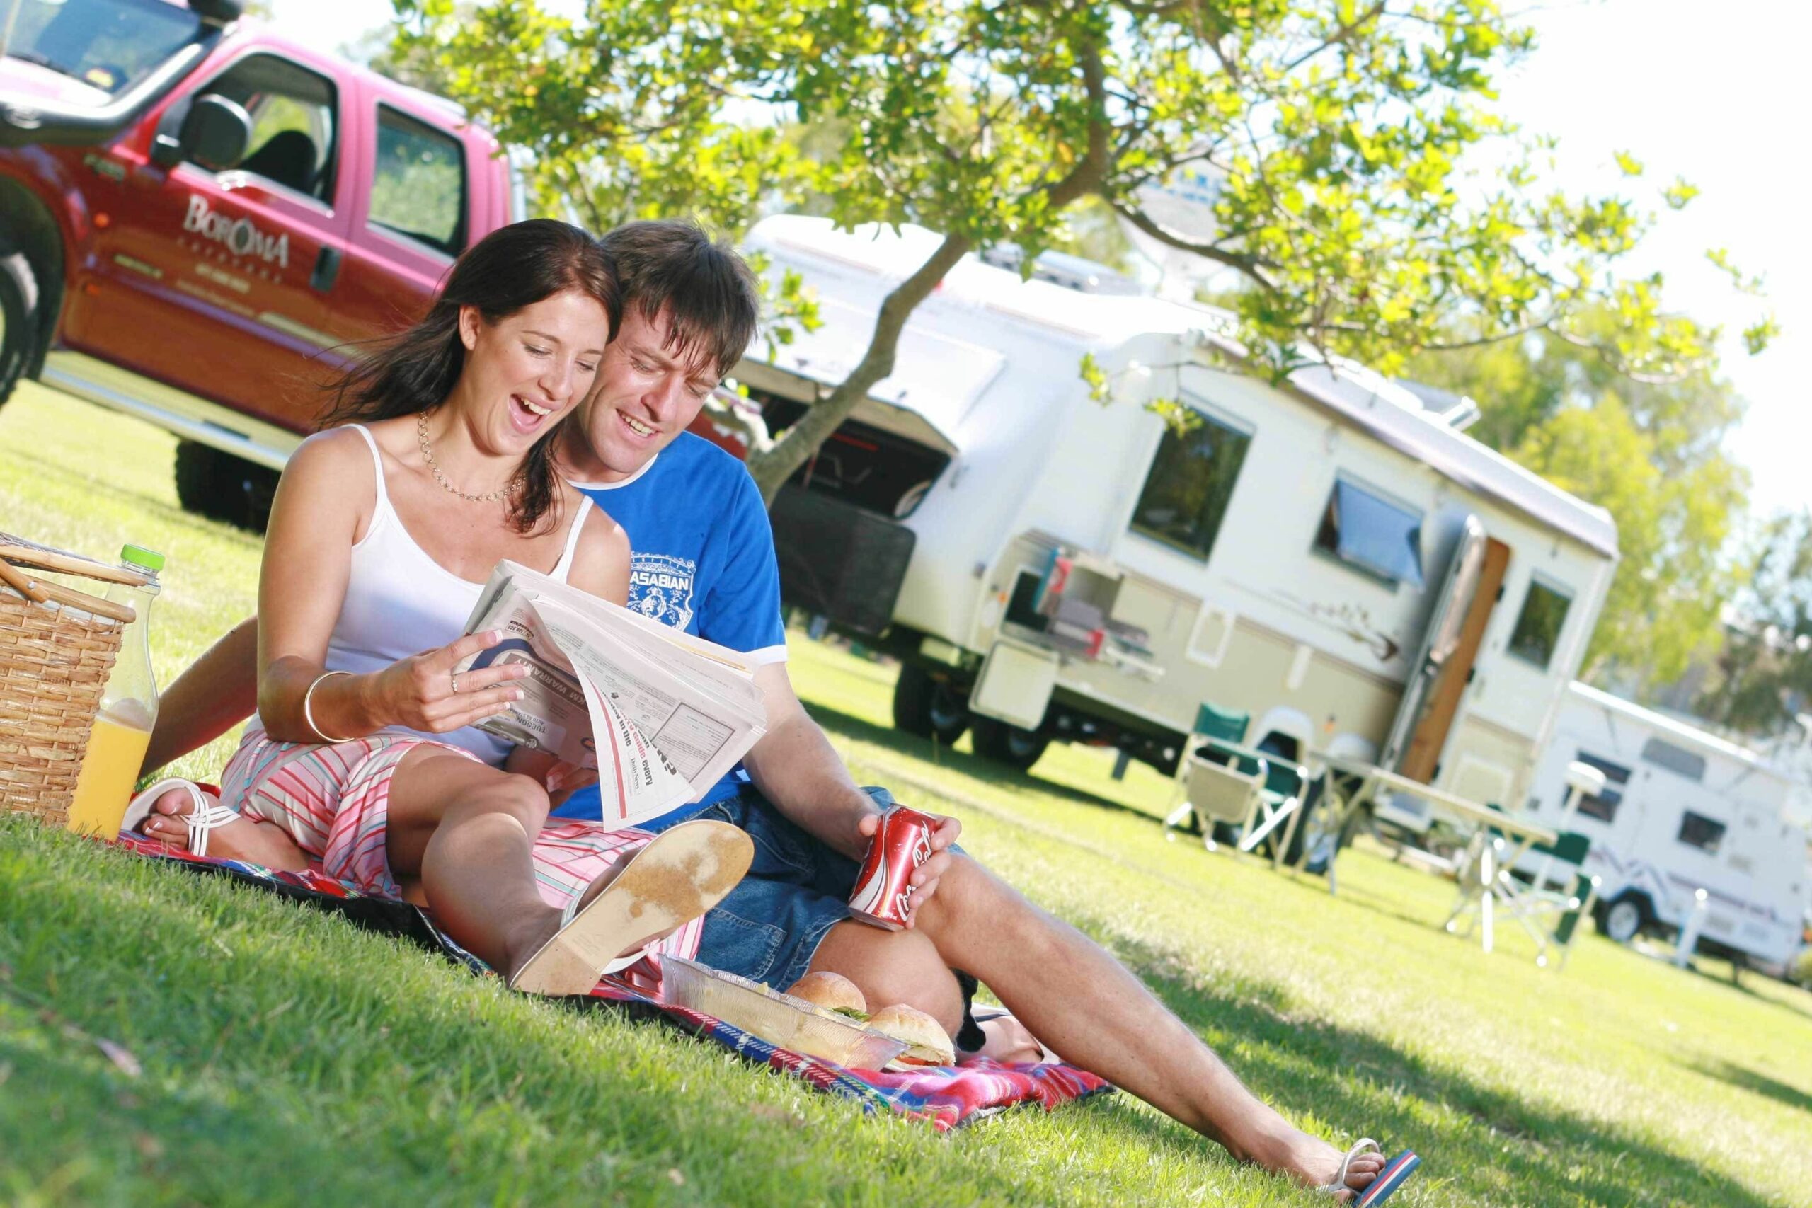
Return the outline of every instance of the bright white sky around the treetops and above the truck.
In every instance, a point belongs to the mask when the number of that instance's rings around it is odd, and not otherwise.
[[[1515,0],[1511,0],[1515,4]],[[384,0],[274,0],[286,36],[326,51],[384,24]],[[1667,299],[1725,328],[1723,371],[1749,402],[1730,453],[1750,469],[1750,507],[1812,503],[1812,391],[1792,366],[1812,359],[1812,172],[1799,72],[1812,5],[1794,0],[1553,0],[1528,9],[1537,51],[1500,83],[1500,112],[1560,139],[1555,183],[1614,188],[1660,206],[1676,176],[1701,192],[1667,212],[1636,266],[1667,277]],[[1647,167],[1625,181],[1618,150]],[[1767,297],[1736,293],[1705,261],[1727,248],[1761,273]],[[1759,357],[1738,333],[1772,312],[1783,331]]]

